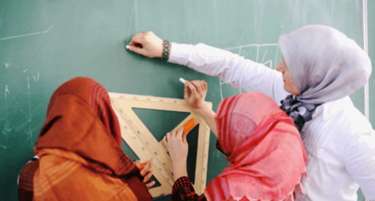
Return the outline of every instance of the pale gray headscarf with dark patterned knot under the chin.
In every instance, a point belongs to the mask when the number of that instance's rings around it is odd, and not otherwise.
[[[332,27],[299,28],[281,35],[279,46],[300,92],[282,100],[281,108],[299,130],[305,121],[311,120],[318,105],[350,95],[364,86],[371,75],[368,55],[354,40]]]

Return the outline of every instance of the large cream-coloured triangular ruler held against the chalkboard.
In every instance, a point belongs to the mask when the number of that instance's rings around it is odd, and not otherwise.
[[[181,123],[172,131],[178,130],[192,117],[194,117],[196,123],[199,124],[194,189],[198,195],[204,193],[207,176],[210,128],[203,118],[194,112],[184,99],[122,93],[108,94],[111,99],[111,105],[120,123],[121,137],[139,157],[140,161],[147,161],[150,158],[152,159],[151,170],[153,170],[154,176],[161,184],[159,187],[150,189],[150,193],[153,197],[169,195],[172,193],[172,186],[175,181],[175,178],[173,177],[172,160],[162,142],[158,142],[155,139],[153,134],[142,123],[132,108],[190,112],[190,115],[181,121]],[[205,102],[205,104],[208,108],[212,108],[211,102]]]

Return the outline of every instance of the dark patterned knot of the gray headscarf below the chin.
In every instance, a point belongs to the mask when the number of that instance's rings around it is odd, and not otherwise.
[[[288,95],[287,98],[281,100],[281,104],[280,108],[293,119],[294,124],[296,124],[296,127],[300,132],[305,122],[312,119],[311,116],[314,114],[317,106],[321,105],[300,102],[297,100],[296,95]]]

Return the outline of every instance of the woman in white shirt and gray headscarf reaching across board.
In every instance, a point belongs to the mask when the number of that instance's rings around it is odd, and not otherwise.
[[[349,97],[369,79],[371,61],[345,34],[309,25],[281,35],[283,60],[276,70],[205,44],[163,45],[152,32],[134,35],[129,45],[132,52],[163,56],[279,103],[300,130],[308,155],[306,192],[297,200],[356,201],[359,187],[375,200],[375,131]]]

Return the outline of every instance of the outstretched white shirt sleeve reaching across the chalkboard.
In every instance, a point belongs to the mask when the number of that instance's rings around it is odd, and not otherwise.
[[[186,65],[247,92],[262,92],[281,105],[290,93],[284,90],[282,74],[243,56],[202,43],[172,43],[168,62]]]

